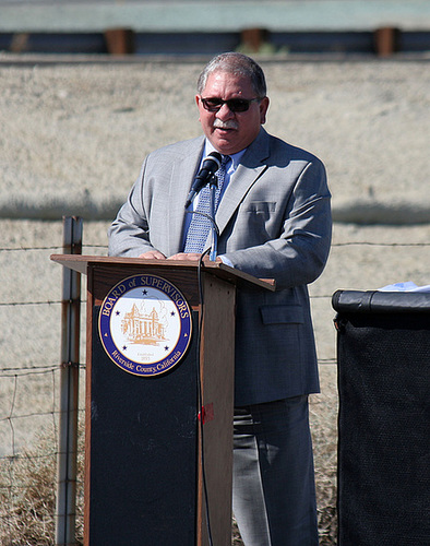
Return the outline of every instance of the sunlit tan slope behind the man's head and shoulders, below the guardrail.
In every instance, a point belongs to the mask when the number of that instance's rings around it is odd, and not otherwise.
[[[325,162],[341,219],[430,222],[429,62],[261,63],[266,129]],[[110,218],[146,153],[200,134],[201,67],[0,62],[0,216]]]

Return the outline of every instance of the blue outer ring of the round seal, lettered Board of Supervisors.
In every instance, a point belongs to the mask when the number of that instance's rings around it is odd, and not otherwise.
[[[180,332],[175,346],[164,358],[150,364],[128,358],[121,347],[116,345],[111,333],[111,317],[115,306],[130,290],[140,287],[144,289],[155,288],[166,295],[175,305],[180,319]],[[154,377],[165,373],[177,366],[184,356],[191,342],[192,317],[186,298],[169,281],[157,275],[132,275],[117,283],[106,295],[99,312],[98,331],[104,349],[119,368],[134,376]]]

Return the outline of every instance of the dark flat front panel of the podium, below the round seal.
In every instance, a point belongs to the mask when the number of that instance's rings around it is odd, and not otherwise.
[[[193,545],[195,341],[170,372],[142,378],[111,361],[93,328],[89,544]]]

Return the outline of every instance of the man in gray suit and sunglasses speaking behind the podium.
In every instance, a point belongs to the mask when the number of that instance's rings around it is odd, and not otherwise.
[[[226,157],[216,210],[218,257],[276,292],[240,289],[237,302],[234,511],[247,546],[318,545],[308,394],[318,366],[307,285],[330,250],[323,164],[262,128],[263,71],[224,54],[200,75],[204,136],[150,154],[109,229],[111,256],[198,260],[208,242],[184,203],[203,158]],[[204,207],[202,190],[190,205]],[[194,219],[199,218],[199,221]],[[205,239],[204,235],[203,239]]]

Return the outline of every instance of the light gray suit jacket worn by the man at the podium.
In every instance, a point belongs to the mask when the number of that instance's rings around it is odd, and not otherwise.
[[[155,248],[181,251],[184,202],[204,138],[150,154],[109,228],[110,256]],[[216,214],[218,253],[277,289],[240,289],[236,331],[236,405],[318,392],[307,285],[324,269],[331,241],[323,164],[261,129]]]

